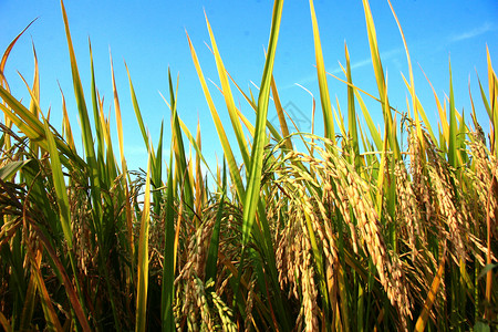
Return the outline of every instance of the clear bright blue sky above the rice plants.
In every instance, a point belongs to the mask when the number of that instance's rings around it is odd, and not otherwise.
[[[339,62],[345,63],[344,41],[352,62],[353,82],[374,95],[377,94],[375,76],[370,61],[370,49],[362,2],[315,1],[323,54],[326,70],[340,76]],[[473,90],[476,111],[481,126],[489,127],[486,111],[477,90],[476,71],[487,84],[486,44],[491,61],[498,63],[498,6],[490,1],[393,1],[401,20],[415,71],[415,86],[432,126],[437,129],[436,104],[433,93],[418,64],[425,71],[440,98],[448,94],[448,59],[452,59],[456,107],[465,111],[470,120],[468,82]],[[225,66],[246,91],[259,85],[264,65],[264,48],[268,44],[271,23],[271,1],[66,1],[73,44],[82,75],[83,87],[90,100],[89,38],[92,42],[96,71],[96,84],[104,95],[104,110],[111,110],[111,127],[115,133],[112,104],[110,49],[117,80],[123,125],[125,131],[125,155],[129,168],[146,167],[145,145],[139,134],[133,111],[124,61],[126,61],[137,93],[145,123],[152,139],[157,145],[160,121],[165,120],[165,153],[169,145],[169,110],[159,95],[167,96],[167,70],[174,77],[179,75],[178,112],[190,131],[195,132],[200,121],[203,149],[210,163],[215,154],[221,156],[212,120],[200,90],[188,49],[186,31],[190,35],[199,56],[206,79],[218,84],[214,56],[209,44],[204,10],[211,23]],[[388,75],[390,101],[393,106],[406,110],[406,89],[401,73],[408,75],[403,42],[387,1],[371,1],[376,25],[378,45],[384,70]],[[52,124],[61,128],[61,95],[58,82],[64,92],[73,129],[79,125],[73,97],[68,46],[59,1],[0,0],[0,52],[10,41],[39,18],[19,40],[7,62],[6,76],[18,98],[29,101],[29,94],[18,71],[32,82],[34,43],[41,76],[41,107],[46,114],[51,107]],[[308,1],[288,0],[277,48],[274,77],[283,105],[292,105],[299,114],[302,131],[310,131],[311,96],[295,83],[310,90],[317,98],[318,133],[323,127],[317,71],[313,66],[314,49]],[[331,98],[338,97],[346,108],[344,84],[329,79]],[[226,128],[230,122],[222,96],[214,84],[209,85],[218,112]],[[232,86],[232,91],[235,91]],[[369,98],[365,97],[365,101]],[[253,112],[240,95],[236,103],[243,114],[253,118]],[[335,102],[333,102],[335,104]],[[336,105],[335,105],[336,107]],[[369,102],[377,124],[382,124],[381,107]],[[274,117],[270,107],[269,118]],[[77,135],[77,132],[76,132]],[[79,141],[79,137],[75,137]],[[117,142],[116,142],[117,144]],[[117,146],[115,146],[117,148]],[[117,153],[117,149],[116,149]]]

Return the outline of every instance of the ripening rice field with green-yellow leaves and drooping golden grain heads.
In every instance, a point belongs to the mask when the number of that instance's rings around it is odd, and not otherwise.
[[[172,75],[170,122],[152,142],[128,72],[148,152],[144,170],[128,169],[114,70],[111,124],[93,59],[91,98],[83,94],[61,1],[74,85],[64,97],[77,104],[77,152],[65,104],[51,110],[63,114],[61,128],[40,108],[38,65],[33,83],[27,83],[30,101],[21,103],[9,90],[2,72],[22,32],[13,39],[0,62],[3,330],[498,328],[498,81],[489,52],[485,79],[477,79],[480,95],[469,94],[473,110],[465,116],[455,105],[450,75],[449,95],[434,92],[434,129],[417,97],[406,43],[407,111],[390,105],[369,1],[363,7],[378,90],[365,92],[352,80],[347,48],[343,74],[326,72],[310,0],[320,85],[319,106],[310,112],[321,112],[324,135],[295,133],[272,76],[282,6],[274,1],[256,94],[228,75],[206,20],[225,105],[215,105],[187,34],[224,149],[219,165],[206,164],[199,128],[183,123]],[[393,15],[397,21],[394,10]],[[334,113],[331,80],[347,86],[347,121]],[[256,123],[236,106],[231,90],[243,95]],[[382,107],[383,128],[369,113],[365,101],[372,100]],[[269,104],[279,126],[267,118]],[[476,110],[486,110],[489,129],[477,122]],[[221,112],[229,115],[228,126]],[[117,142],[111,141],[114,125]],[[236,142],[227,138],[228,129]],[[170,131],[170,142],[163,142],[163,131]],[[165,144],[170,155],[163,154]]]

